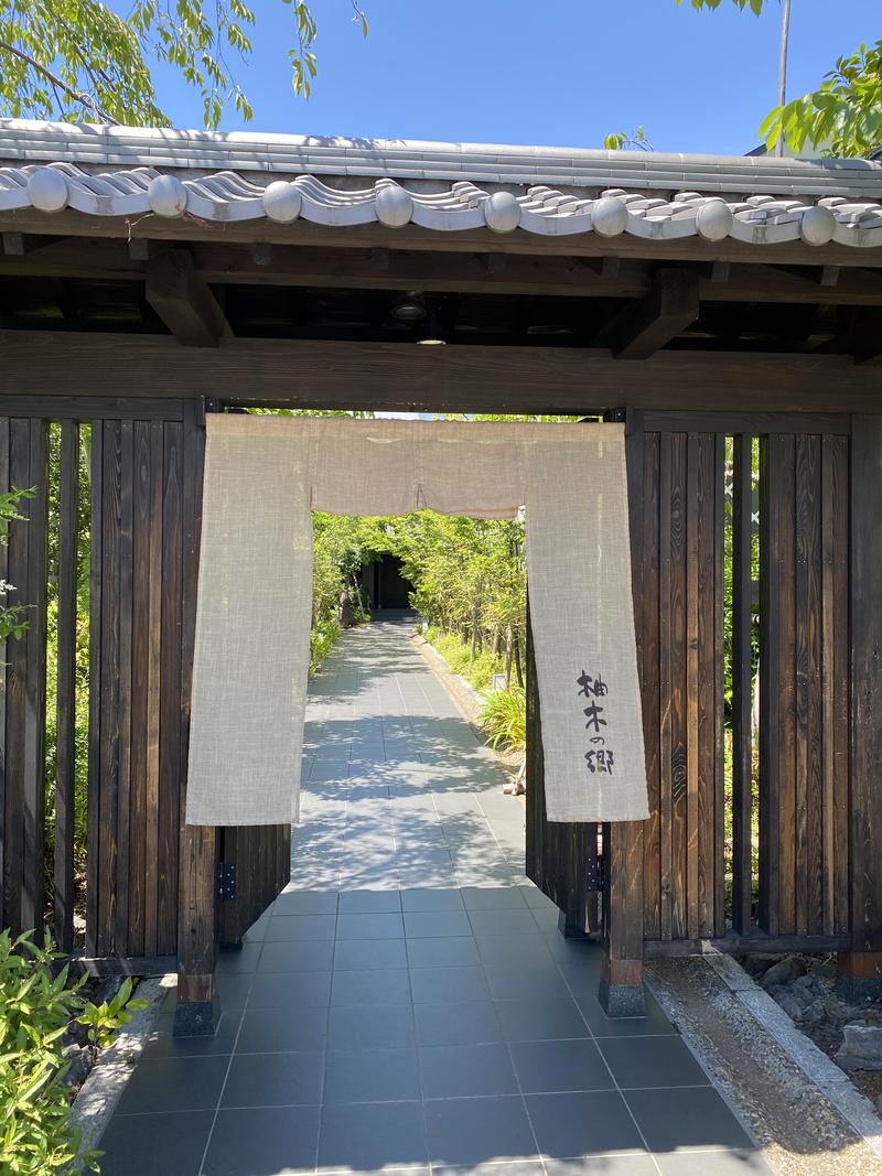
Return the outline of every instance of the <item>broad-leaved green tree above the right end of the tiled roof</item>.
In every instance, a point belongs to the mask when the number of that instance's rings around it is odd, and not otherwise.
[[[696,9],[723,2],[690,0]],[[759,16],[769,0],[730,2]],[[817,89],[782,101],[763,120],[760,135],[769,149],[783,138],[794,151],[809,145],[837,158],[866,156],[882,147],[882,40],[838,58]]]

